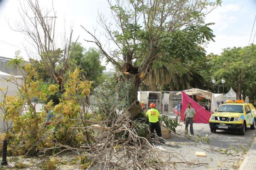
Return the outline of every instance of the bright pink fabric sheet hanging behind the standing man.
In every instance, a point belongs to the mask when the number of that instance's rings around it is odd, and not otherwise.
[[[211,117],[211,113],[208,112],[204,107],[196,103],[191,97],[189,97],[185,92],[181,92],[181,115],[180,120],[184,119],[184,113],[188,107],[188,103],[191,103],[191,107],[193,107],[196,111],[196,117],[194,123],[209,123],[209,119]]]

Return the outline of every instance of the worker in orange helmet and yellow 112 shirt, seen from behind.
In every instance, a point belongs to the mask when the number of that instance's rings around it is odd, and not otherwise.
[[[160,113],[157,109],[155,109],[156,105],[154,103],[151,103],[149,107],[150,107],[150,110],[147,111],[146,117],[148,117],[149,126],[150,126],[150,133],[151,133],[150,143],[153,144],[155,141],[154,130],[156,130],[157,136],[160,137],[160,142],[164,144],[165,142],[162,138],[162,132],[161,132],[161,127],[159,123]]]

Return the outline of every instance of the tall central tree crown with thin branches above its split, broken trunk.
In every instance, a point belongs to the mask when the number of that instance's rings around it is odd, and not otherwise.
[[[220,4],[209,0],[108,0],[108,3],[114,24],[109,24],[104,14],[99,14],[99,24],[116,49],[107,51],[96,31],[82,27],[92,37],[85,41],[95,43],[126,75],[126,80],[134,81],[135,93],[152,70],[153,62],[165,53],[162,45],[166,38],[189,25],[203,24],[204,16]]]

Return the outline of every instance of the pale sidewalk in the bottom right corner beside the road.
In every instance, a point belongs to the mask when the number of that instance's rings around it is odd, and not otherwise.
[[[256,170],[256,139],[252,142],[239,170]]]

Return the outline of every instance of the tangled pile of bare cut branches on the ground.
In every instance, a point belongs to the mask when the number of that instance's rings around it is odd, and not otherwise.
[[[129,111],[132,111],[133,115]],[[129,109],[123,114],[117,114],[116,119],[112,120],[97,121],[102,118],[93,112],[92,119],[87,121],[87,127],[73,127],[84,134],[92,132],[90,144],[71,147],[56,140],[53,142],[54,146],[46,150],[61,148],[58,153],[66,150],[78,153],[79,159],[83,160],[79,161],[82,169],[92,166],[96,169],[175,169],[177,163],[206,165],[188,162],[179,153],[152,146],[143,135],[138,134],[141,130],[149,133],[146,119],[142,118],[140,113],[138,101],[134,101]],[[140,118],[136,119],[138,115]]]

